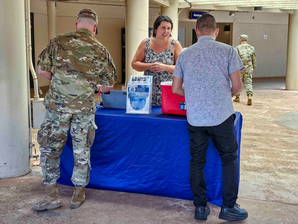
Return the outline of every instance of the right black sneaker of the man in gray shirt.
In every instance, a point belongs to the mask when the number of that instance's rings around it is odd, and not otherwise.
[[[240,205],[235,204],[233,208],[229,208],[227,206],[221,206],[221,212],[219,213],[220,219],[223,220],[229,220],[229,221],[234,221],[234,220],[244,220],[247,219],[248,213],[245,209],[239,208]]]

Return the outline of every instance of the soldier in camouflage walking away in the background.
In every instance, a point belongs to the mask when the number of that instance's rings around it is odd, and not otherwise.
[[[256,62],[256,53],[254,51],[254,47],[247,44],[248,36],[243,34],[240,36],[240,45],[236,47],[236,50],[242,60],[242,63],[245,67],[243,71],[241,71],[241,79],[243,79],[246,95],[248,96],[247,105],[252,105],[252,96],[253,96],[253,86],[252,86],[252,72],[257,67]],[[240,93],[236,95],[234,99],[235,102],[240,102]]]

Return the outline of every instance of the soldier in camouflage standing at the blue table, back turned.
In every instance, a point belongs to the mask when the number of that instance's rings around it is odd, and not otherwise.
[[[60,154],[69,128],[75,158],[71,179],[75,191],[69,207],[79,208],[86,197],[84,189],[91,169],[90,147],[97,129],[94,122],[95,86],[101,78],[103,85],[97,85],[97,88],[102,95],[116,82],[113,60],[94,38],[97,23],[97,14],[93,10],[81,10],[75,24],[77,31],[54,37],[39,55],[38,73],[51,83],[43,101],[46,106],[44,122],[37,134],[46,197],[32,205],[35,210],[61,206],[56,180],[60,176]]]

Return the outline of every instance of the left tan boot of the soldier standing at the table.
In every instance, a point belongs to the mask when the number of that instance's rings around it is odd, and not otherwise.
[[[61,198],[58,193],[57,184],[46,185],[46,197],[44,200],[34,203],[32,208],[41,211],[61,207]]]

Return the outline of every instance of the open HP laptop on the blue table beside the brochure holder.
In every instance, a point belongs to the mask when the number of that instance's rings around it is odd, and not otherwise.
[[[103,107],[126,109],[126,91],[111,90],[101,96]]]

